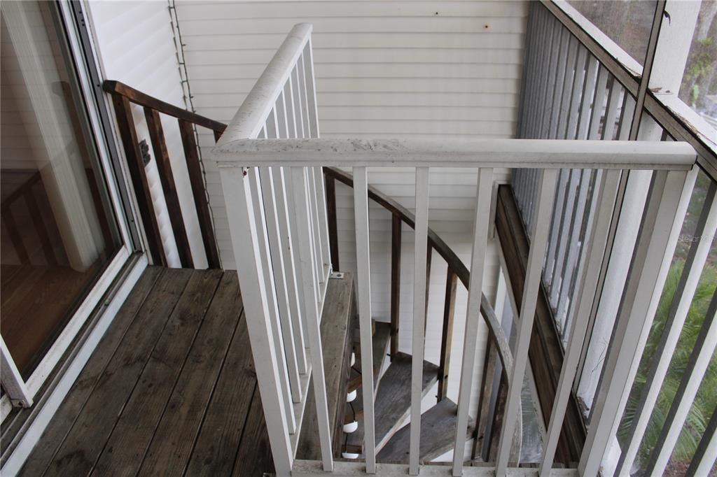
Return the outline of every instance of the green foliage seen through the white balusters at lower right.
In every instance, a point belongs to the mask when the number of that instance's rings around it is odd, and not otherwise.
[[[655,320],[652,322],[652,328],[650,329],[650,336],[645,345],[642,362],[640,362],[640,367],[637,370],[635,384],[632,387],[630,399],[627,401],[625,414],[622,417],[622,422],[617,432],[617,437],[623,448],[626,447],[627,440],[629,439],[632,421],[637,416],[636,412],[640,404],[640,394],[642,393],[645,382],[647,382],[650,359],[655,355],[655,352],[659,352],[660,338],[665,328],[665,321],[668,319],[668,313],[684,266],[685,262],[683,260],[675,260],[670,267],[667,281],[665,281],[665,288],[660,298],[660,304],[657,307]],[[690,353],[694,348],[695,341],[702,328],[708,306],[716,287],[717,266],[708,264],[703,271],[697,290],[695,291],[695,297],[688,311],[688,316],[680,334],[675,354],[670,362],[668,374],[665,377],[662,389],[660,389],[660,394],[657,396],[655,410],[653,410],[650,422],[645,430],[645,437],[642,438],[637,458],[638,462],[643,463],[643,465],[650,456],[652,449],[655,448],[657,439],[660,438],[665,417],[677,393],[680,380],[682,380],[684,375]],[[682,433],[680,433],[680,438],[678,438],[675,450],[673,451],[673,463],[675,461],[682,463],[689,462],[694,455],[708,420],[710,420],[713,411],[717,407],[717,393],[714,392],[714,390],[717,390],[717,355],[712,357],[706,375],[700,385],[698,395],[690,408],[687,422],[683,427]]]

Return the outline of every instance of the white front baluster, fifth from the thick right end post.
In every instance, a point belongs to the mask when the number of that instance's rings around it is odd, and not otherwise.
[[[353,213],[356,219],[356,283],[361,334],[361,385],[364,396],[366,473],[376,473],[374,358],[371,336],[371,255],[369,254],[369,183],[366,168],[353,168]]]

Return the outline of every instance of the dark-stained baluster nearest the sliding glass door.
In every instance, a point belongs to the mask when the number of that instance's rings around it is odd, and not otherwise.
[[[132,117],[130,102],[126,97],[118,95],[112,95],[112,102],[115,105],[120,139],[122,140],[125,156],[127,157],[127,166],[135,189],[135,196],[147,237],[149,253],[155,265],[167,266],[166,256],[164,256],[162,249],[159,224],[154,214],[152,196],[149,191],[147,174],[144,170],[144,161],[142,160],[142,153],[139,150],[137,131]]]

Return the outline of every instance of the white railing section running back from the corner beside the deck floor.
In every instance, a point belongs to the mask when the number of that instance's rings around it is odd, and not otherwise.
[[[298,24],[288,34],[219,148],[227,138],[318,138],[310,34],[310,24]],[[315,167],[222,170],[277,469],[290,466],[287,459],[296,451],[312,370],[318,408],[327,405],[319,335],[331,273],[323,180]],[[318,414],[318,422],[322,438],[328,436],[326,410]]]

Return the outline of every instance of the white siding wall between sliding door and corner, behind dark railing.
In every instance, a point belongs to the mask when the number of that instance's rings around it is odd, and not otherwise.
[[[89,2],[87,8],[90,11],[92,34],[98,49],[100,74],[103,78],[124,82],[160,100],[186,107],[168,2],[98,1]],[[110,103],[110,110],[111,108]],[[142,108],[133,105],[133,113],[138,140],[145,139],[151,144]],[[161,117],[194,265],[196,268],[204,268],[206,256],[192,201],[179,126],[174,118],[165,115]],[[117,143],[121,144],[119,138]],[[123,154],[121,146],[119,149],[120,154]],[[151,148],[149,154],[154,156]],[[179,256],[154,159],[148,165],[147,174],[168,262],[170,266],[179,266]]]

